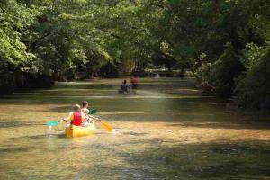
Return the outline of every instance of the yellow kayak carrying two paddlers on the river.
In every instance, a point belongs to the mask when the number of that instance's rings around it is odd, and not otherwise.
[[[94,123],[90,126],[75,126],[75,125],[68,125],[66,127],[66,135],[69,138],[75,137],[83,137],[83,136],[91,136],[94,134],[95,126]]]

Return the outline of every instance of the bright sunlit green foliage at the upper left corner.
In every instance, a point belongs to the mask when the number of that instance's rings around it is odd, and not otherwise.
[[[0,6],[0,58],[2,63],[17,66],[33,57],[25,51],[26,46],[21,41],[19,31],[33,22],[36,12],[14,0],[4,0]]]

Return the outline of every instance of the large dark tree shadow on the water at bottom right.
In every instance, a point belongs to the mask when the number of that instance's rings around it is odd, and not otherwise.
[[[140,172],[143,179],[268,179],[269,149],[267,141],[161,146],[139,154],[121,153],[133,168],[122,169],[120,166],[111,170],[133,171],[134,175]],[[134,175],[130,177],[138,178]]]

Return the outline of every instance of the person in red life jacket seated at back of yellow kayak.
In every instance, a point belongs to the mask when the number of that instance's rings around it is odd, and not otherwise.
[[[70,112],[67,120],[71,121],[70,123],[75,126],[82,126],[84,121],[87,121],[84,112],[81,112],[80,105],[76,104],[74,107],[74,112]]]

